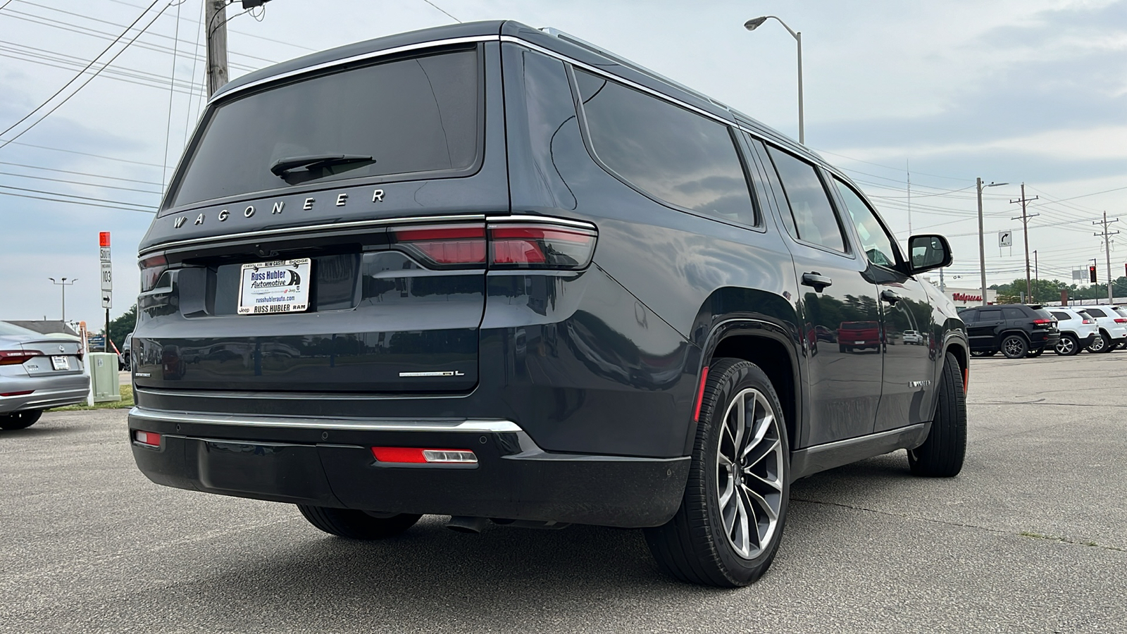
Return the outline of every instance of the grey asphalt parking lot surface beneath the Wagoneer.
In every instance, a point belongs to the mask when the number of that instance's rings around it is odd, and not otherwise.
[[[968,459],[795,484],[755,585],[662,576],[639,531],[428,517],[332,538],[293,507],[151,484],[125,412],[0,433],[0,632],[1124,632],[1127,352],[975,359]]]

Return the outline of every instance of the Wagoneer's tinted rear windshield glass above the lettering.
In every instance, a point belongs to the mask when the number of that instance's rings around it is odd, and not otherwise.
[[[400,59],[228,102],[205,122],[166,206],[310,180],[470,168],[478,65],[476,50]],[[316,157],[345,160],[300,165]]]

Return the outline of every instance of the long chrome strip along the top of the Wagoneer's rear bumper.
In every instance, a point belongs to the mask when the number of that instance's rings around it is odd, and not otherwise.
[[[237,425],[250,428],[289,428],[313,430],[425,431],[425,432],[520,432],[521,426],[505,420],[468,421],[378,421],[372,419],[299,419],[291,416],[246,416],[229,414],[189,414],[162,410],[130,410],[130,419],[197,425]]]

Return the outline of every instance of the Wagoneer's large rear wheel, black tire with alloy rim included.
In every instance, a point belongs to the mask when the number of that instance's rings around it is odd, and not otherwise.
[[[658,566],[687,583],[755,582],[779,548],[789,496],[790,444],[771,380],[747,361],[713,359],[681,508],[645,529]]]

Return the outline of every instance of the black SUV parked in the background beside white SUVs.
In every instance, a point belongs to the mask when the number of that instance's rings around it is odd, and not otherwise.
[[[978,306],[959,312],[967,325],[970,353],[990,356],[1002,352],[1009,359],[1039,356],[1061,338],[1057,320],[1040,306],[1006,303]]]

